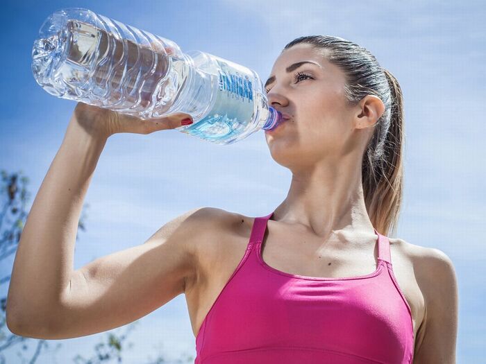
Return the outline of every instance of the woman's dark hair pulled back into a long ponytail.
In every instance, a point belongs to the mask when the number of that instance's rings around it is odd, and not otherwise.
[[[403,95],[399,82],[367,49],[330,35],[299,37],[285,46],[311,44],[346,75],[346,99],[353,104],[367,95],[378,96],[385,112],[374,125],[374,134],[362,157],[364,202],[371,223],[380,234],[396,232],[403,195]]]

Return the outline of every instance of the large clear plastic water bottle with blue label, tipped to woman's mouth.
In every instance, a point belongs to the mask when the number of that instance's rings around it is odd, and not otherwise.
[[[255,71],[81,8],[54,12],[32,50],[35,80],[49,94],[142,119],[176,112],[181,132],[231,144],[283,121]]]

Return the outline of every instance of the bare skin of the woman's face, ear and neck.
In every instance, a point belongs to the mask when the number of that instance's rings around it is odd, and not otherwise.
[[[291,73],[294,62],[313,60]],[[305,72],[313,79],[294,73]],[[376,96],[349,105],[344,96],[345,76],[309,44],[283,51],[271,71],[276,80],[267,86],[269,104],[292,116],[265,133],[278,164],[292,171],[287,198],[276,208],[273,220],[299,225],[321,243],[335,244],[340,236],[356,231],[374,234],[364,205],[361,161],[385,111]]]

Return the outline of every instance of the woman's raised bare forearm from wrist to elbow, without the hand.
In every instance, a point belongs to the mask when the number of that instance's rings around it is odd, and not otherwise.
[[[33,327],[53,322],[50,316],[69,288],[83,200],[106,141],[85,132],[73,114],[15,254],[6,308],[12,332],[27,322]]]

